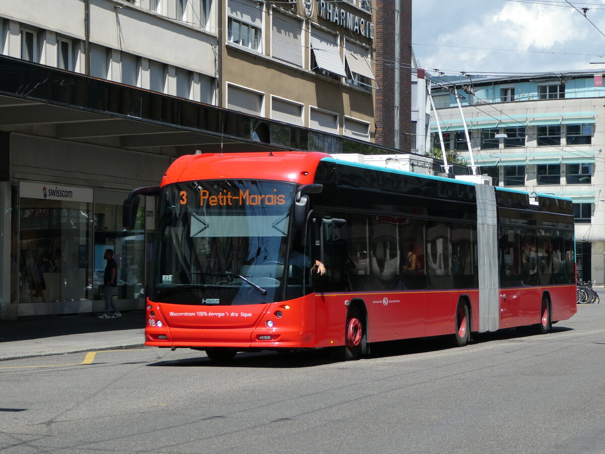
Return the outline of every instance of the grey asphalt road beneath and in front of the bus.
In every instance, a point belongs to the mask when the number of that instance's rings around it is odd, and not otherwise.
[[[605,302],[605,300],[604,300]],[[2,361],[8,453],[603,453],[605,304],[511,329],[322,352],[146,348]]]

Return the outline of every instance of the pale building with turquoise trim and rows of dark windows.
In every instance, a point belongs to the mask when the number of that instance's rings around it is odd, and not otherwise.
[[[578,276],[603,285],[605,88],[600,71],[473,77],[434,84],[432,96],[436,111],[427,146],[440,148],[439,123],[446,150],[460,151],[469,162],[472,154],[477,173],[492,177],[495,185],[572,199]]]

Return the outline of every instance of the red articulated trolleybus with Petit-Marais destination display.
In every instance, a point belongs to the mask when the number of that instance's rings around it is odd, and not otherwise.
[[[345,162],[197,154],[159,196],[145,344],[237,352],[333,347],[551,323],[576,312],[571,200]],[[318,263],[325,273],[318,272]]]

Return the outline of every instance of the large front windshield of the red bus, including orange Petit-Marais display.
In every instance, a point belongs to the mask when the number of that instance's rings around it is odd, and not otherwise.
[[[152,299],[260,304],[281,295],[296,185],[206,180],[160,194]]]

